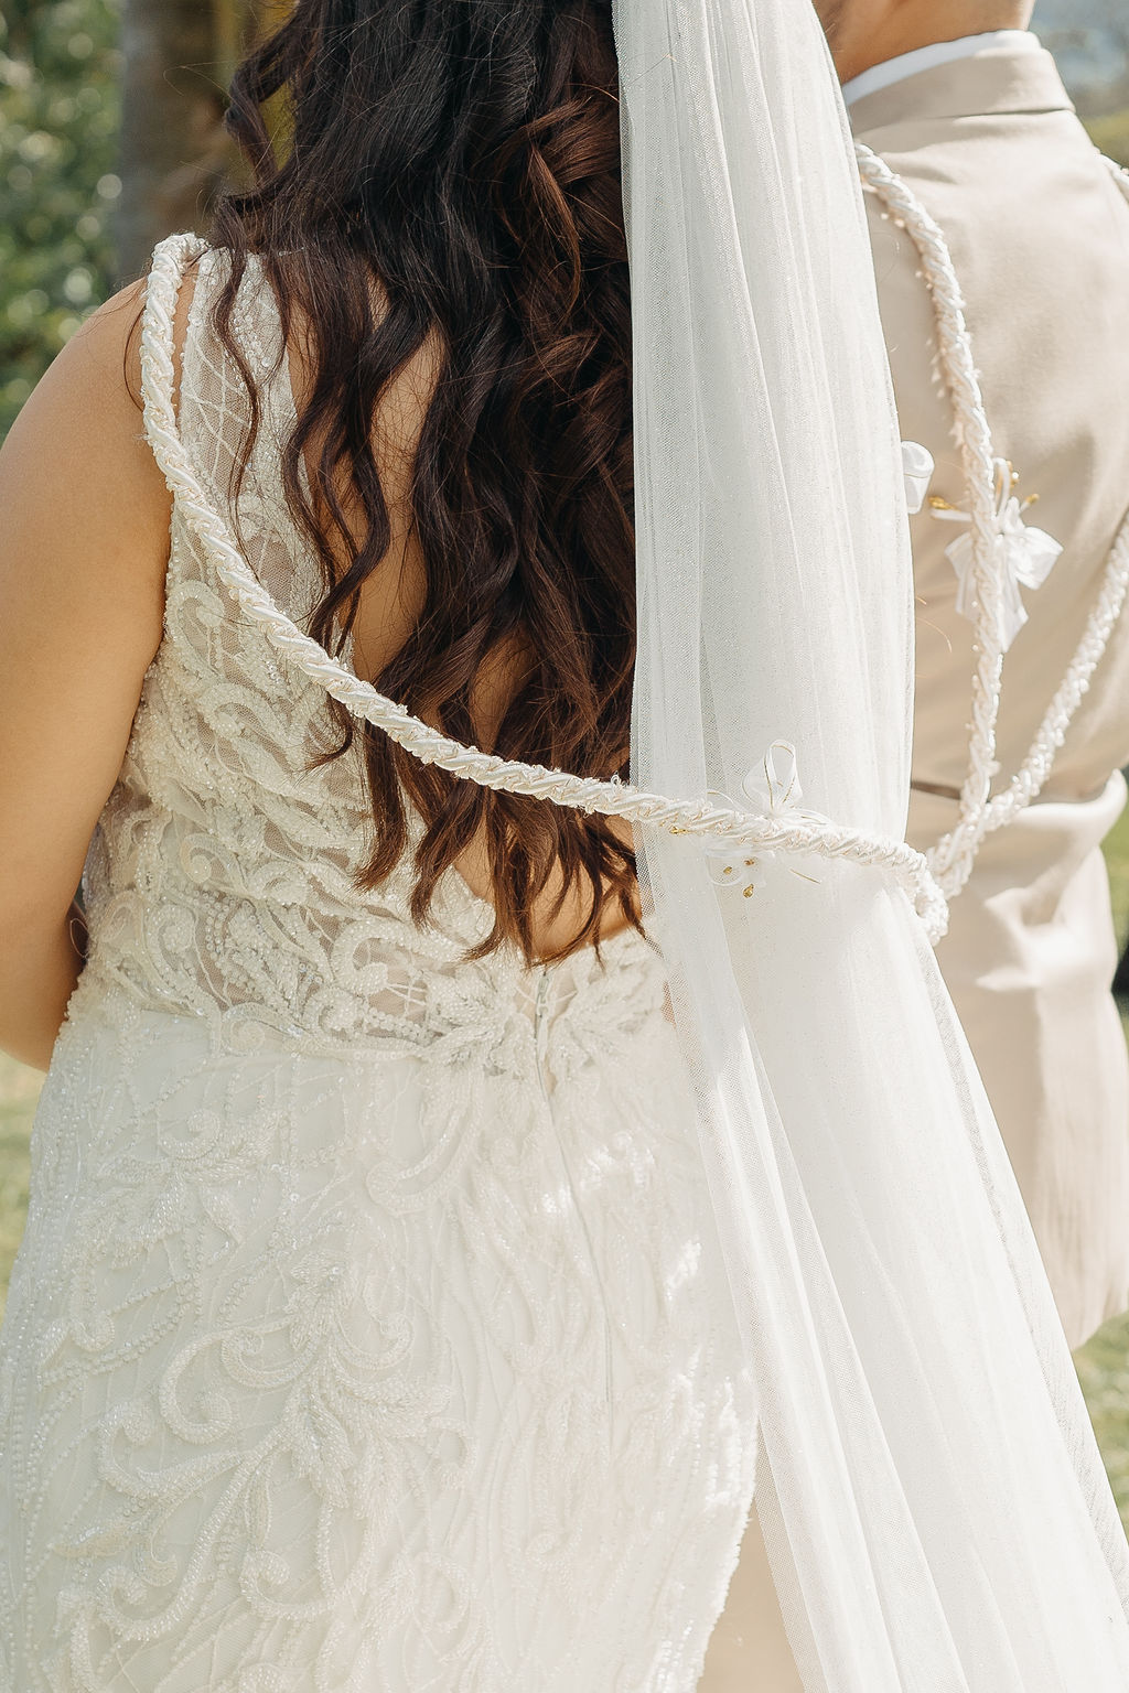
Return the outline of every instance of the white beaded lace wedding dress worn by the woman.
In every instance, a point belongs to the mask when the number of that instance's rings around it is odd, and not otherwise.
[[[220,262],[181,433],[225,508]],[[254,267],[235,327],[239,532],[301,620]],[[406,867],[357,892],[369,801],[352,755],[311,765],[328,733],[176,513],[3,1329],[0,1688],[684,1693],[755,1412],[662,963],[636,935],[472,963],[457,874],[425,929]]]

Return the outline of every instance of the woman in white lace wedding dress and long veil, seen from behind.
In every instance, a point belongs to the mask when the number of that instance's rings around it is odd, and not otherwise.
[[[1124,1693],[806,0],[298,0],[232,125],[0,459],[0,1688],[768,1688],[763,1522],[780,1686]]]

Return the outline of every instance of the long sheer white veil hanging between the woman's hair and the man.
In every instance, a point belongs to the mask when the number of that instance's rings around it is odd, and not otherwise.
[[[635,780],[902,838],[902,467],[823,34],[809,0],[616,0],[616,34]],[[1124,1693],[1124,1534],[909,902],[856,865],[638,848],[806,1688]]]

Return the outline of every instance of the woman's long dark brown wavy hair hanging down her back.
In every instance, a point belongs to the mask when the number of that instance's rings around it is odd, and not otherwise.
[[[396,567],[374,415],[435,345],[410,499],[425,603],[376,682],[506,758],[621,772],[635,535],[609,0],[296,0],[239,68],[229,127],[252,178],[215,213],[235,259],[215,327],[239,359],[232,306],[259,254],[310,361],[284,486],[323,572],[311,633],[340,650],[362,584]],[[471,701],[498,660],[515,682],[486,735]],[[496,921],[479,955],[513,941],[535,957],[533,902],[557,867],[557,914],[577,891],[587,913],[559,957],[598,940],[609,906],[638,926],[635,858],[604,819],[459,782],[335,709],[327,757],[362,735],[372,794],[359,885],[405,853],[406,794],[425,823],[416,921],[482,840]]]

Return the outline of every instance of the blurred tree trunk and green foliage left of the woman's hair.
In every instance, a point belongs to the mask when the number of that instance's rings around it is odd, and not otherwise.
[[[229,163],[223,90],[284,0],[0,0],[0,438],[83,317]]]

